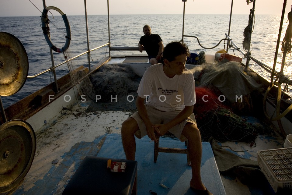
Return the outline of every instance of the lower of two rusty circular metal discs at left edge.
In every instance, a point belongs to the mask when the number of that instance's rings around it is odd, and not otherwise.
[[[36,136],[25,121],[0,126],[0,194],[19,185],[30,170],[36,152]]]

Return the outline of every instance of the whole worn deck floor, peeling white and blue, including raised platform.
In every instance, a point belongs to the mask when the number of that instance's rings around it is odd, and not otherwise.
[[[120,129],[128,118],[127,112],[89,113],[76,119],[73,114],[60,113],[36,133],[37,148],[33,165],[23,183],[17,186],[13,195],[59,195],[81,164],[85,156],[125,158]],[[150,194],[152,190],[161,194],[194,194],[189,189],[191,167],[187,165],[186,154],[161,153],[153,162],[154,143],[149,138],[137,139],[136,160],[138,161],[138,193]],[[259,150],[280,148],[284,140],[278,136],[258,136],[256,147],[245,142],[219,144],[227,151],[251,160],[257,160]],[[160,146],[185,147],[185,144],[161,138]],[[248,151],[246,151],[248,150]],[[58,159],[57,164],[51,162]],[[201,176],[205,186],[214,195],[260,195],[258,188],[246,186],[232,176],[221,175],[214,160],[209,143],[203,143]],[[170,189],[159,185],[164,184]],[[223,184],[224,187],[223,187]],[[225,191],[224,191],[225,189]]]

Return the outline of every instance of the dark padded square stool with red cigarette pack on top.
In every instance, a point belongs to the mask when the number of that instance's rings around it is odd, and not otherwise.
[[[111,172],[107,169],[107,160],[86,156],[62,195],[68,194],[137,194],[137,161],[111,159],[127,162],[125,172]]]

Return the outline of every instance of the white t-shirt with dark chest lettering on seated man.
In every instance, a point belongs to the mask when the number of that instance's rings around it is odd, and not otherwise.
[[[145,71],[137,92],[139,97],[146,98],[145,105],[166,112],[182,110],[196,103],[193,73],[185,69],[182,75],[169,78],[161,63]]]

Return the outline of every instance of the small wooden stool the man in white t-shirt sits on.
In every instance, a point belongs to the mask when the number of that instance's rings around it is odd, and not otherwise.
[[[167,132],[166,134],[171,134]],[[179,154],[186,154],[188,165],[191,165],[191,161],[189,160],[189,142],[188,140],[185,141],[186,149],[182,148],[168,148],[168,147],[159,147],[159,137],[157,143],[154,142],[154,162],[157,161],[158,153],[159,152],[167,152],[167,153],[179,153]]]

